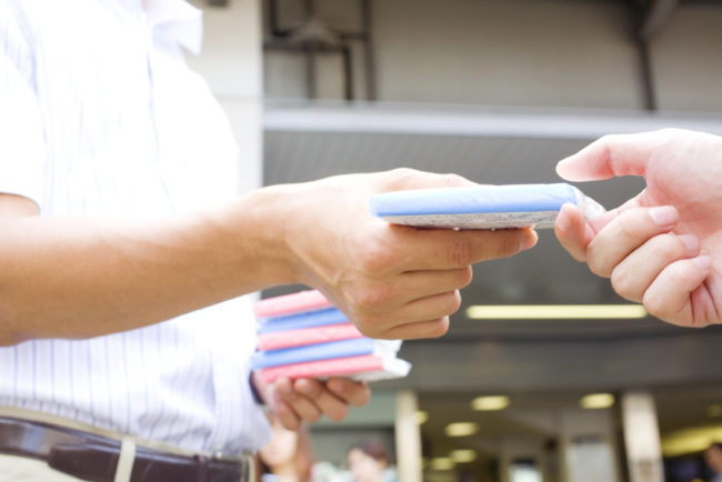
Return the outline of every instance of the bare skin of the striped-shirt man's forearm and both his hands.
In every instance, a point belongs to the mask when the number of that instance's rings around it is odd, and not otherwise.
[[[535,233],[393,227],[369,200],[471,184],[410,169],[348,174],[154,220],[42,217],[31,200],[0,194],[0,345],[133,330],[294,283],[322,291],[367,335],[441,337],[472,264],[529,249]],[[345,379],[258,389],[290,429],[340,420],[370,398]]]

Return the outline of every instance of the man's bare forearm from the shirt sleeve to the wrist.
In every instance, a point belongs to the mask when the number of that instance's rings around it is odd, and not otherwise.
[[[259,190],[157,221],[3,218],[0,343],[131,330],[293,282],[277,202]]]

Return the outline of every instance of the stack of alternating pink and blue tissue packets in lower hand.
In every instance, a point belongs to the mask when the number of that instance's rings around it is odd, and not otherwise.
[[[251,368],[261,380],[345,376],[377,381],[405,376],[400,340],[367,338],[319,291],[261,300],[254,305],[258,351]]]

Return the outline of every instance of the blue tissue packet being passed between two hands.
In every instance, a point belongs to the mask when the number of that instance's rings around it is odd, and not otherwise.
[[[393,191],[371,198],[371,213],[393,224],[419,228],[552,228],[563,204],[588,219],[604,208],[566,183],[505,184]]]

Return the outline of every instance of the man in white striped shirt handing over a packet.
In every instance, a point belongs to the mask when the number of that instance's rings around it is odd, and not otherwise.
[[[322,291],[367,335],[442,335],[471,264],[531,230],[389,227],[412,170],[239,195],[239,149],[183,0],[0,0],[0,473],[13,481],[245,480],[270,439],[345,416],[347,379],[251,378],[252,299]],[[343,202],[339,202],[343,200]],[[71,479],[72,480],[72,479]]]

